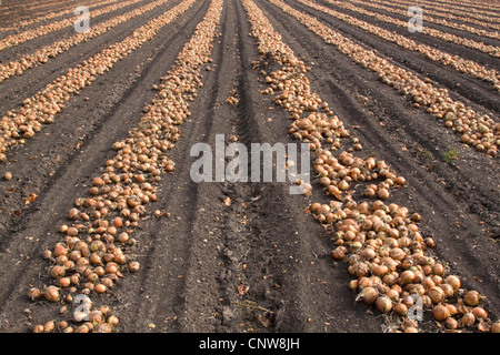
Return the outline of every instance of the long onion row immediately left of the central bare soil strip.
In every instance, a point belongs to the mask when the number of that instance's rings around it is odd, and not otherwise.
[[[179,14],[194,1],[183,1],[166,14]],[[59,286],[31,287],[28,297],[60,303],[87,297],[80,304],[87,312],[73,312],[70,321],[62,321],[64,327],[59,329],[64,333],[110,333],[119,325],[110,307],[94,306],[90,297],[107,300],[116,283],[141,270],[134,260],[137,241],[132,235],[148,215],[147,206],[158,200],[156,186],[161,175],[173,170],[174,162],[167,151],[179,140],[178,126],[190,115],[187,102],[202,87],[201,68],[211,61],[222,4],[223,0],[211,2],[176,64],[161,78],[163,84],[141,114],[138,126],[112,145],[117,155],[107,161],[101,176],[91,179],[88,195],[76,199],[67,215],[70,223],[59,227],[62,240],[42,252],[51,263],[49,275]],[[48,328],[58,329],[36,325],[33,332]]]

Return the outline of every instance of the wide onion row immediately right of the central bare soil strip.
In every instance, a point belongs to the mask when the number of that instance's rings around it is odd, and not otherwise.
[[[419,297],[422,312],[430,311],[450,331],[477,324],[482,332],[500,332],[500,323],[492,323],[482,307],[483,297],[473,290],[461,288],[459,276],[428,255],[428,248],[436,243],[421,234],[421,216],[389,203],[389,191],[403,185],[404,178],[398,176],[383,161],[357,156],[362,150],[362,146],[354,149],[359,140],[344,129],[319,94],[312,92],[306,77],[310,68],[293,54],[252,0],[242,2],[259,53],[281,67],[270,73],[261,70],[268,84],[262,93],[276,94],[274,102],[289,112],[292,121],[289,132],[310,143],[314,169],[326,193],[331,194],[332,185],[358,182],[357,186],[344,185],[344,194],[336,195],[329,203],[312,203],[307,210],[331,231],[336,244],[332,256],[349,264],[348,271],[353,276],[349,287],[358,293],[356,300],[381,314],[400,317],[398,328],[391,328],[394,332],[418,332],[419,321],[411,318],[409,311]],[[271,2],[286,6],[279,0]],[[342,150],[346,140],[350,148]],[[360,185],[373,191],[357,197]],[[377,189],[383,189],[383,194],[379,195]],[[458,297],[457,302],[448,302],[451,297]]]

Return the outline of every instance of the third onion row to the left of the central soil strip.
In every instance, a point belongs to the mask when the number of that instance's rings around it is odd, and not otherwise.
[[[19,60],[10,61],[6,64],[0,64],[0,83],[13,75],[21,75],[28,69],[39,67],[47,63],[51,58],[56,58],[59,54],[68,51],[70,48],[78,45],[81,42],[87,42],[90,39],[97,38],[120,23],[126,23],[131,19],[142,16],[170,0],[158,0],[148,3],[138,9],[133,9],[124,14],[117,16],[104,22],[93,24],[89,31],[80,32],[52,44],[46,45],[33,53],[22,55]],[[121,2],[120,7],[130,6],[136,1]]]

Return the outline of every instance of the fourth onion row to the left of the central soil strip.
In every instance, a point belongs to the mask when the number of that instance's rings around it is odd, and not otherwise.
[[[100,6],[104,4],[104,3],[106,4],[112,3],[112,4],[110,4],[110,6],[106,7],[106,8],[102,8],[102,9],[93,9],[92,10],[92,18],[96,18],[98,16],[116,11],[118,9],[121,9],[121,8],[126,7],[126,6],[132,4],[132,3],[137,2],[137,1],[129,0],[129,1],[123,1],[123,2],[120,1],[118,3],[113,3],[113,2],[117,2],[117,1],[116,0],[107,0],[107,1],[101,2],[101,3],[94,3],[94,4],[89,6],[89,10],[90,10],[90,9],[100,7]],[[72,18],[68,18],[68,19],[62,19],[62,20],[58,20],[58,21],[54,21],[54,22],[49,22],[49,23],[42,24],[42,26],[40,26],[40,27],[38,27],[36,29],[26,30],[26,31],[22,31],[22,32],[19,32],[19,33],[10,34],[10,36],[8,36],[6,38],[2,38],[0,40],[0,51],[4,50],[7,48],[11,48],[13,45],[18,45],[20,43],[23,43],[23,42],[37,39],[39,37],[46,36],[46,34],[49,34],[49,33],[52,33],[52,32],[56,32],[56,31],[59,31],[59,30],[62,30],[62,29],[66,29],[66,28],[73,27],[76,19],[77,18],[73,18],[73,17]]]

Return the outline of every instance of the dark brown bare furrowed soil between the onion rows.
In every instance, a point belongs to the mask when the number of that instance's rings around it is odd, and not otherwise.
[[[3,1],[0,19],[9,9],[3,6],[11,2]],[[0,85],[0,114],[179,2],[170,1],[154,13],[134,18],[10,78]],[[0,176],[13,174],[11,181],[0,181],[0,332],[31,332],[33,325],[60,316],[60,305],[27,297],[29,287],[50,282],[49,265],[40,253],[60,240],[58,227],[67,221],[73,201],[87,193],[91,178],[113,156],[112,143],[138,123],[142,108],[154,95],[151,87],[173,65],[209,3],[198,1],[154,40],[98,77],[71,99],[54,123],[9,152],[7,163],[0,164]],[[407,179],[394,202],[422,215],[421,230],[437,244],[431,253],[460,275],[464,287],[484,295],[490,317],[499,320],[499,159],[463,146],[458,135],[424,110],[413,109],[376,74],[297,20],[267,1],[256,3],[296,55],[312,68],[308,73],[312,89],[356,132],[364,154],[383,159]],[[291,4],[498,120],[499,95],[488,83],[296,1]],[[57,7],[54,2],[41,9],[53,11]],[[9,17],[17,13],[12,11]],[[9,33],[1,32],[0,38]],[[72,29],[61,30],[2,51],[0,62],[71,33]],[[388,320],[354,302],[356,294],[348,290],[351,276],[347,264],[332,260],[334,245],[329,234],[304,213],[310,203],[328,201],[317,181],[310,196],[290,194],[288,182],[192,181],[190,166],[198,156],[190,155],[191,146],[198,142],[214,146],[216,134],[223,134],[228,144],[238,141],[247,146],[296,143],[288,135],[287,113],[270,95],[259,92],[266,83],[252,62],[261,58],[240,1],[226,1],[220,33],[213,43],[213,62],[203,70],[203,88],[190,105],[192,115],[180,128],[181,139],[170,151],[176,170],[162,178],[159,200],[149,211],[164,210],[169,216],[149,213],[141,221],[134,236],[141,270],[126,275],[109,293],[96,296],[96,302],[113,307],[123,333],[383,332]],[[401,34],[500,70],[498,60],[487,54],[421,34]],[[239,102],[228,104],[226,100],[234,93]],[[447,159],[451,151],[457,159]],[[36,200],[27,201],[32,193]],[[422,331],[434,332],[437,326],[426,318]]]

